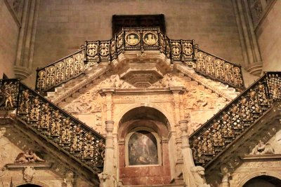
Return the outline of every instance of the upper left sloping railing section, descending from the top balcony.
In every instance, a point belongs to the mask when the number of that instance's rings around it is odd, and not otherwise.
[[[37,69],[36,90],[48,90],[82,74],[87,68],[84,55],[84,50],[79,50],[47,67]]]

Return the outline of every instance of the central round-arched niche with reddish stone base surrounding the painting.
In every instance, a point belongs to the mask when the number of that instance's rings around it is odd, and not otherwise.
[[[123,185],[155,185],[167,184],[171,181],[171,167],[169,159],[169,127],[168,120],[164,114],[152,107],[140,106],[127,111],[119,120],[118,141],[119,141],[119,178]],[[138,162],[131,165],[129,147],[131,137],[134,134],[147,136],[153,139],[157,146],[159,162]],[[137,136],[137,135],[136,135]],[[130,146],[128,142],[130,141]],[[151,141],[152,142],[152,141]],[[136,139],[136,157],[141,146]],[[135,145],[135,144],[134,144]],[[147,145],[146,145],[147,146]],[[144,153],[147,157],[147,155]],[[131,155],[130,155],[131,156]],[[145,157],[145,156],[144,156]],[[144,158],[143,157],[143,158]],[[140,157],[141,158],[141,157]]]

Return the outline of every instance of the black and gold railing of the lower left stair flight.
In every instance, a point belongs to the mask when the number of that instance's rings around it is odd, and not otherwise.
[[[0,80],[0,110],[14,109],[30,129],[72,158],[92,169],[103,167],[103,136],[17,79]]]

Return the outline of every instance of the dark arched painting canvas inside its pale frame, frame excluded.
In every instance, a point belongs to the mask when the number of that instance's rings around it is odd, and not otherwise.
[[[157,140],[151,132],[134,132],[128,141],[128,152],[129,165],[158,164]]]

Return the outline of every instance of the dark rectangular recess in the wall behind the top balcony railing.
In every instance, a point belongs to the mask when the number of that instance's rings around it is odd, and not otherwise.
[[[159,27],[163,33],[166,33],[164,14],[112,15],[112,36],[122,27]]]

